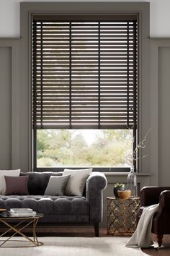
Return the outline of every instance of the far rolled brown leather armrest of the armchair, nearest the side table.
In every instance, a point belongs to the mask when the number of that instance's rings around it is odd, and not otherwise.
[[[164,190],[170,190],[170,187],[143,187],[140,189],[140,205],[155,205]]]

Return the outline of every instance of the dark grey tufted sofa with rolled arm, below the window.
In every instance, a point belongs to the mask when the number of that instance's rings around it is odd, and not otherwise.
[[[50,176],[61,176],[62,172],[20,174],[24,175],[29,175],[29,195],[0,195],[0,208],[32,208],[44,214],[39,224],[94,224],[95,236],[99,236],[99,222],[102,221],[102,190],[107,186],[104,174],[90,174],[82,197],[44,195]]]

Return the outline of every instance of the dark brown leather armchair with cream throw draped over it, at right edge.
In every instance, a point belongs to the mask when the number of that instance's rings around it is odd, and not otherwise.
[[[159,207],[153,216],[152,233],[157,235],[158,246],[161,247],[164,234],[170,234],[170,187],[143,187],[136,221],[138,223],[143,207],[157,203]]]

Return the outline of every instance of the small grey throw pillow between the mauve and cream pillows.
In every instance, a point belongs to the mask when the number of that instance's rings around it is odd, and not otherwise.
[[[50,176],[44,195],[64,195],[70,176]]]

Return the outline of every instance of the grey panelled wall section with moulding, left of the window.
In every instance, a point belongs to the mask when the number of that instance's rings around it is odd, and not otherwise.
[[[19,168],[19,40],[0,39],[0,169]]]

